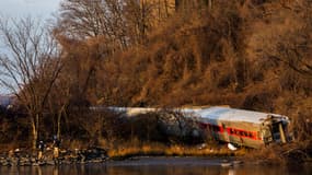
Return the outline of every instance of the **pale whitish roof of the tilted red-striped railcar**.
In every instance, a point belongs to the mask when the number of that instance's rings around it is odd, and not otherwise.
[[[262,124],[264,120],[269,117],[274,117],[278,120],[288,119],[286,116],[270,114],[270,113],[261,113],[253,110],[235,109],[229,107],[209,107],[201,109],[183,109],[184,113],[190,113],[192,115],[206,118],[210,120],[227,120],[227,121],[245,121],[253,124]]]

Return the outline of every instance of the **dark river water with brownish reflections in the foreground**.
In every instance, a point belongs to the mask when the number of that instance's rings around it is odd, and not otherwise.
[[[0,167],[2,175],[312,175],[312,166],[221,166],[224,160],[153,158],[84,165]]]

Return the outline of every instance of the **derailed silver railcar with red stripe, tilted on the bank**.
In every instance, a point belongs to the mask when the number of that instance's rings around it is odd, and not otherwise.
[[[217,140],[258,149],[269,143],[291,140],[287,116],[229,107],[183,109],[199,127]]]

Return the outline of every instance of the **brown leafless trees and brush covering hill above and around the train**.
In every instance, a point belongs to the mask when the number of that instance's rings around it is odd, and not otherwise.
[[[53,35],[63,67],[43,104],[39,138],[58,132],[68,145],[170,142],[176,138],[158,132],[155,115],[125,122],[83,109],[227,104],[291,118],[293,144],[276,155],[276,148],[265,149],[263,155],[279,160],[303,152],[298,156],[311,158],[311,1],[216,0],[172,10],[157,22],[153,8],[160,4],[95,2],[62,4]],[[0,119],[1,142],[19,140],[16,126]],[[30,131],[24,120],[18,124],[19,132]]]

